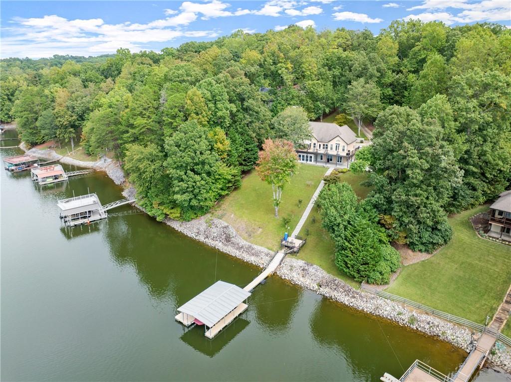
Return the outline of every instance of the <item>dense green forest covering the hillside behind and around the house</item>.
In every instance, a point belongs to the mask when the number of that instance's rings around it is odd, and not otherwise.
[[[30,145],[80,134],[89,154],[113,152],[160,220],[197,217],[237,187],[287,107],[354,115],[357,91],[378,98],[365,115],[374,145],[357,158],[392,240],[434,250],[451,237],[447,213],[511,180],[511,30],[500,25],[400,20],[377,36],[291,26],[0,65],[2,121]]]

